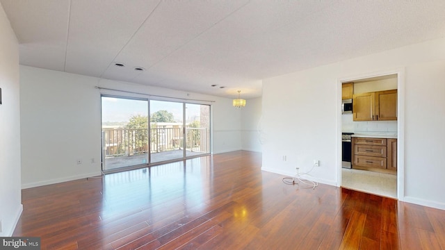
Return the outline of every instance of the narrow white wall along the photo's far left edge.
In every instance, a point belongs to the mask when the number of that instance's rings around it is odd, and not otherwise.
[[[11,236],[22,213],[20,190],[19,45],[0,3],[0,236]]]

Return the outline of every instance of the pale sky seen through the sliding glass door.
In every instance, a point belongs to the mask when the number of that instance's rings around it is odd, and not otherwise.
[[[175,120],[182,120],[182,103],[150,101],[150,113],[167,110]],[[148,115],[147,101],[102,97],[102,122],[128,122],[133,115]],[[200,116],[200,104],[186,103],[186,118]]]

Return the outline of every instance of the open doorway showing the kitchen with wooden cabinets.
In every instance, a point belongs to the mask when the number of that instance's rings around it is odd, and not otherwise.
[[[341,84],[342,103],[353,106],[341,115],[341,186],[397,198],[398,74]]]

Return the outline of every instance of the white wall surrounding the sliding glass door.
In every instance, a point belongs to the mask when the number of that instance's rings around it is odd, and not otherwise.
[[[232,107],[232,99],[27,66],[20,66],[20,84],[22,188],[100,174],[101,100],[97,85],[215,101],[212,103],[213,153],[241,149],[241,113]],[[91,163],[91,158],[95,158],[96,163]],[[81,165],[76,164],[77,159],[82,160]]]

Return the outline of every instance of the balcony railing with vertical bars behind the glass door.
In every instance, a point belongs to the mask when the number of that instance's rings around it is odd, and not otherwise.
[[[184,148],[183,128],[104,128],[102,145],[105,157],[134,156]],[[205,152],[206,128],[186,128],[186,150]]]

